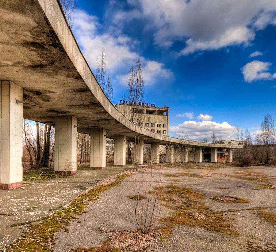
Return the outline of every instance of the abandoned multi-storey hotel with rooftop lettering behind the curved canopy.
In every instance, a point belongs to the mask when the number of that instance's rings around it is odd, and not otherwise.
[[[115,107],[138,126],[168,136],[169,107],[155,107],[153,103],[133,106],[131,102],[125,100],[115,104]]]

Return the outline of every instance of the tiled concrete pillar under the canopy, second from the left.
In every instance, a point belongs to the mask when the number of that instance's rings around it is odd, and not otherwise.
[[[55,172],[77,173],[77,118],[55,118]]]

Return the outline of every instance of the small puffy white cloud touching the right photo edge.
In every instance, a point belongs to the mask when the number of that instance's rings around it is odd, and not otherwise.
[[[242,68],[243,78],[246,82],[257,80],[272,80],[276,78],[276,73],[269,73],[271,63],[262,62],[259,60],[251,61],[245,64]]]

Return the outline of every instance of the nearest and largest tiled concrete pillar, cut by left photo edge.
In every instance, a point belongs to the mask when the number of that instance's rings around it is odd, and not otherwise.
[[[11,81],[0,83],[0,189],[10,190],[22,186],[23,89]]]

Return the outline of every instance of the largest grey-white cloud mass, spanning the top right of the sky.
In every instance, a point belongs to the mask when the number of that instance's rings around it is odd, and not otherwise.
[[[147,21],[156,45],[170,47],[182,40],[178,55],[248,45],[255,31],[276,25],[276,0],[128,0],[130,11],[118,11],[114,23]]]

